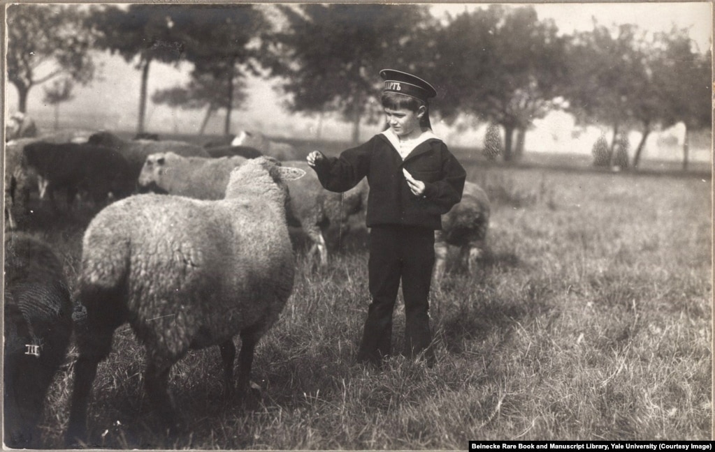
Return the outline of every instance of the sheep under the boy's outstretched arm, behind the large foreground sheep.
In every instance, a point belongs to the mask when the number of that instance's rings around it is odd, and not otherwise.
[[[303,169],[306,176],[288,183],[290,189],[289,224],[300,226],[307,234],[312,245],[309,254],[317,253],[320,265],[327,264],[327,244],[325,237],[328,228],[335,226],[341,232],[350,228],[350,217],[365,211],[368,199],[368,181],[344,194],[334,193],[322,188],[317,174],[306,161],[287,161],[288,166]]]

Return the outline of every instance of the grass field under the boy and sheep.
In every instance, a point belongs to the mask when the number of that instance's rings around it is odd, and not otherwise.
[[[345,246],[322,270],[298,253],[293,296],[257,348],[257,406],[223,398],[217,348],[194,351],[171,380],[192,428],[167,438],[142,392],[144,351],[124,326],[94,383],[97,446],[464,450],[480,439],[710,439],[709,177],[464,161],[493,202],[490,250],[478,273],[451,266],[433,288],[433,368],[400,356],[380,372],[355,365],[367,253]],[[72,280],[91,215],[36,209],[24,228],[54,244]],[[403,327],[398,308],[398,350]],[[62,446],[76,356],[72,348],[49,393],[49,448]]]

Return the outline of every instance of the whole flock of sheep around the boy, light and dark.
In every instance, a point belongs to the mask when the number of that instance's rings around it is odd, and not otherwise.
[[[123,323],[147,349],[145,390],[170,428],[182,420],[167,388],[169,371],[192,348],[219,346],[227,393],[246,396],[256,343],[292,293],[291,228],[305,232],[310,253],[327,265],[327,228],[347,231],[367,206],[367,181],[345,194],[325,191],[302,155],[250,132],[206,146],[124,140],[107,131],[6,143],[6,444],[38,444],[44,394],[73,329],[79,357],[70,445],[87,440],[97,365]],[[99,211],[84,231],[72,297],[48,244],[16,231],[15,217],[27,214],[34,191],[53,209],[87,199]],[[435,278],[444,273],[448,245],[460,246],[474,270],[488,221],[486,194],[468,182],[436,233]],[[25,378],[29,373],[35,377]]]

